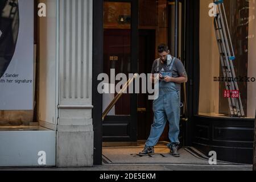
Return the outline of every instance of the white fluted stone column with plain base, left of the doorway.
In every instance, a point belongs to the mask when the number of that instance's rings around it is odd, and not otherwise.
[[[57,167],[93,165],[92,0],[59,1]]]

